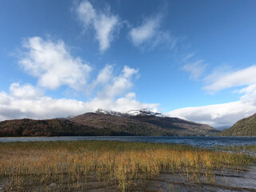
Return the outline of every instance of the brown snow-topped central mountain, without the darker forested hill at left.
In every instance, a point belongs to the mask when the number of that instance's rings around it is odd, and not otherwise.
[[[213,127],[180,118],[164,117],[150,110],[130,110],[120,113],[112,110],[97,110],[70,118],[70,121],[98,129],[110,128],[134,135],[215,135]]]

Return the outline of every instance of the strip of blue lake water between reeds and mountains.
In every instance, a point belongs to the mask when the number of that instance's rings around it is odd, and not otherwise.
[[[122,142],[161,142],[187,144],[191,146],[245,146],[256,145],[254,137],[158,137],[158,136],[72,136],[72,137],[34,137],[34,138],[0,138],[0,142],[54,142],[104,140]]]

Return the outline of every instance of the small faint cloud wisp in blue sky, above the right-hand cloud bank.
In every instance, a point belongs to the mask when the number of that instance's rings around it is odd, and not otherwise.
[[[187,72],[189,72],[190,78],[198,79],[206,70],[206,64],[203,59],[199,59],[196,62],[187,63],[185,66],[182,67],[182,70],[186,70]]]

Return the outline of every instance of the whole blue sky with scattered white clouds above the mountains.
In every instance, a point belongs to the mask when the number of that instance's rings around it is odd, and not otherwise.
[[[256,113],[254,0],[0,3],[0,121],[148,109],[223,129]]]

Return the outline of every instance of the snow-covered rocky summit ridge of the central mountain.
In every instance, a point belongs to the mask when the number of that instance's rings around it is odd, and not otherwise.
[[[154,112],[152,110],[146,110],[146,109],[141,109],[141,110],[128,110],[125,113],[121,113],[118,111],[114,110],[102,110],[98,109],[95,111],[96,114],[110,114],[114,116],[136,116],[136,115],[154,115],[156,117],[161,117],[163,118],[164,116],[160,112]]]

